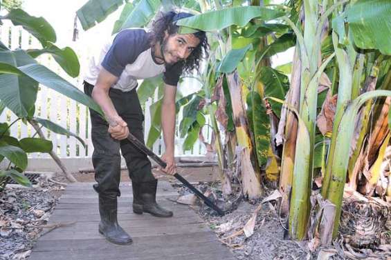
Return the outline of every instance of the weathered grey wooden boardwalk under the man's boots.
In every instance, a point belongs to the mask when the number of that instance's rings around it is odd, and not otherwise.
[[[167,199],[178,193],[170,183],[160,181],[157,200],[174,212],[172,218],[134,214],[131,183],[121,183],[118,221],[133,238],[129,246],[106,241],[98,233],[98,194],[93,183],[69,184],[49,224],[75,222],[40,237],[29,260],[234,260],[228,248],[188,206]]]

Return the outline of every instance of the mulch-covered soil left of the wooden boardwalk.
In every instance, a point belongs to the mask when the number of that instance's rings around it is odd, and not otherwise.
[[[64,190],[64,186],[39,181],[35,188],[8,185],[0,192],[0,260],[30,255]]]

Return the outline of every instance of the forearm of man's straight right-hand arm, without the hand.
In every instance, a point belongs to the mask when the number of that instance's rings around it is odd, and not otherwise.
[[[161,126],[163,130],[163,140],[165,152],[174,154],[174,134],[175,134],[175,104],[163,103],[161,110]]]

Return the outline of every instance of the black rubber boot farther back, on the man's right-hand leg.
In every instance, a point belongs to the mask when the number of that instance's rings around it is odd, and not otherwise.
[[[172,211],[165,210],[156,203],[156,188],[158,181],[134,183],[133,188],[133,212],[143,214],[147,212],[155,217],[172,217]]]

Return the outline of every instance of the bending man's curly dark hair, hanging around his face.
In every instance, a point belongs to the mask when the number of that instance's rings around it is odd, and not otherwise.
[[[165,30],[167,30],[170,35],[176,34],[179,29],[179,26],[176,26],[176,21],[191,16],[192,14],[186,12],[160,12],[150,26],[152,44],[163,43]],[[201,59],[208,57],[209,44],[208,39],[206,38],[206,33],[203,31],[197,31],[193,34],[200,40],[199,45],[194,48],[188,59],[185,59],[185,61],[179,61],[183,63],[183,72],[186,73],[190,73],[194,69],[199,71],[199,63]]]

